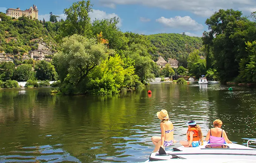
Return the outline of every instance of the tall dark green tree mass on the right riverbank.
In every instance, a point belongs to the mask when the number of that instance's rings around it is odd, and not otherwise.
[[[242,17],[241,11],[233,9],[220,9],[205,23],[209,29],[203,36],[207,67],[212,65],[223,83],[234,80],[240,73],[242,80],[250,60],[245,42],[255,40],[256,23]],[[250,78],[245,80],[251,81]]]

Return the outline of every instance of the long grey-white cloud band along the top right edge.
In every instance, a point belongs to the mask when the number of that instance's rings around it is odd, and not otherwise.
[[[209,17],[219,9],[256,8],[256,0],[100,0],[105,6],[139,4]],[[248,14],[246,12],[246,14]]]

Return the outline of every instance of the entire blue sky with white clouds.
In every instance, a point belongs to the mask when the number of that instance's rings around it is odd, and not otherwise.
[[[5,0],[0,12],[8,8],[25,10],[37,5],[39,20],[49,20],[49,12],[65,19],[63,10],[77,0]],[[207,31],[205,20],[219,9],[235,9],[244,15],[256,11],[256,0],[91,0],[95,18],[119,17],[121,31],[138,34],[182,33],[201,37]]]

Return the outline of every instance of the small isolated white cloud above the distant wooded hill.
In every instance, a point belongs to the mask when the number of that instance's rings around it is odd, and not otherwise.
[[[181,28],[181,29],[186,29],[186,30],[202,30],[204,29],[204,26],[197,23],[196,20],[193,20],[189,16],[176,16],[174,18],[165,18],[165,17],[160,17],[156,20],[156,22],[162,23],[163,25],[171,28]]]

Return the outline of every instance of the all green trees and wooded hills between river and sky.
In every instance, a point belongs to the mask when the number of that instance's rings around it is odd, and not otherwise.
[[[117,94],[147,85],[152,78],[206,75],[223,84],[256,83],[256,12],[220,9],[206,20],[203,37],[185,34],[142,35],[122,32],[119,18],[91,20],[91,2],[64,9],[66,20],[18,20],[0,12],[0,88],[49,86],[56,80],[62,94]],[[28,57],[41,45],[53,55]],[[13,55],[13,62],[6,56]],[[178,68],[157,65],[159,56],[176,59]],[[26,58],[26,59],[24,59]],[[46,61],[47,58],[47,61]],[[6,62],[7,61],[7,62]],[[177,83],[187,83],[179,78]],[[41,83],[41,84],[39,84]],[[243,84],[239,84],[243,85]]]

